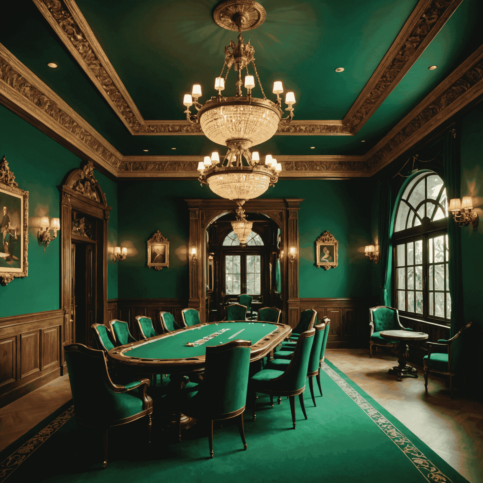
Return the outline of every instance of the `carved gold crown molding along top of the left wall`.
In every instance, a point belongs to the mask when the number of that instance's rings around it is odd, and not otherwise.
[[[117,173],[121,153],[1,43],[0,101],[76,155]]]

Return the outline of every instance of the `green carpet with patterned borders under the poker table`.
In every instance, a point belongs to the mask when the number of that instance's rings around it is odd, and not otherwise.
[[[242,449],[237,426],[229,423],[214,430],[213,459],[207,459],[208,439],[202,423],[187,430],[181,443],[167,443],[154,427],[153,443],[147,450],[142,444],[145,424],[139,421],[110,430],[107,469],[100,469],[100,438],[92,438],[87,445],[96,462],[79,467],[74,457],[75,418],[64,408],[58,417],[46,421],[43,432],[50,437],[24,437],[2,452],[0,483],[5,477],[7,483],[467,482],[326,362],[321,371],[324,396],[316,397],[314,408],[307,385],[308,420],[296,401],[295,430],[287,399],[270,408],[268,396],[259,395],[256,421],[250,409],[245,414],[247,451]]]

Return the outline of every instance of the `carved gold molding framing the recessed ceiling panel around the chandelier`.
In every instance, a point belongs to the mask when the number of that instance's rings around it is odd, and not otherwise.
[[[133,136],[203,135],[187,121],[142,118],[74,0],[33,0]],[[293,120],[278,135],[351,136],[374,114],[462,0],[420,0],[342,120]]]

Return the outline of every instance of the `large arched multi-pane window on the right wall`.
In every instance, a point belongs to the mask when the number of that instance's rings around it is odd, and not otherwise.
[[[392,236],[396,308],[408,315],[449,320],[444,182],[436,173],[425,171],[412,177],[401,190]]]

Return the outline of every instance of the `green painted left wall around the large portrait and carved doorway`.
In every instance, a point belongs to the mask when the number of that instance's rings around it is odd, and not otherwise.
[[[15,181],[29,192],[29,218],[48,215],[59,217],[60,194],[57,186],[68,171],[79,168],[81,159],[34,128],[28,122],[0,106],[0,157],[5,155]],[[95,171],[108,203],[113,206],[110,238],[117,236],[116,184]],[[112,230],[112,233],[111,233]],[[0,286],[0,317],[42,312],[59,308],[60,246],[59,237],[43,253],[37,241],[38,229],[28,231],[28,277],[16,278]],[[109,269],[109,297],[117,297],[117,267]]]

